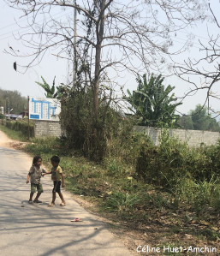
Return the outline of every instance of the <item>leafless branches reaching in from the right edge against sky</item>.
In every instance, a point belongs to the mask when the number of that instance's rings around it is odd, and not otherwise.
[[[220,28],[217,16],[211,9],[211,4],[208,4],[209,10],[213,17],[213,21],[217,26],[217,31]],[[176,74],[186,83],[191,86],[182,97],[187,98],[193,96],[199,91],[205,91],[205,101],[202,103],[203,108],[207,106],[208,110],[215,113],[211,108],[211,100],[220,98],[217,93],[217,82],[220,80],[220,36],[211,34],[208,31],[208,40],[199,39],[199,59],[188,58],[184,65],[175,65]],[[196,80],[198,77],[199,80]],[[203,109],[201,108],[201,109]]]

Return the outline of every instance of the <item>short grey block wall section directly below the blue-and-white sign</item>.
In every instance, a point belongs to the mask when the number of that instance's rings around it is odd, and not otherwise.
[[[62,135],[61,125],[57,121],[35,121],[35,137],[60,137]]]

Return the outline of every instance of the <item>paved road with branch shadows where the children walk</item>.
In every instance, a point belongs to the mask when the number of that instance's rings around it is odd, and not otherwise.
[[[1,144],[2,142],[2,144]],[[30,185],[26,184],[32,158],[3,145],[0,132],[0,244],[1,256],[30,255],[134,255],[110,233],[105,223],[83,209],[74,196],[62,190],[67,205],[48,207],[51,201],[50,176],[42,178],[45,193],[42,205],[29,205]],[[82,222],[71,222],[80,217]]]

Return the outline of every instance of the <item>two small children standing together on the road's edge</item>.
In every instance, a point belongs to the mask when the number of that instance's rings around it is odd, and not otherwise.
[[[64,187],[65,185],[64,185],[64,176],[62,174],[62,169],[59,166],[59,163],[60,163],[60,158],[57,156],[53,156],[51,158],[51,164],[52,164],[51,171],[46,172],[43,168],[40,167],[40,165],[42,164],[42,158],[40,158],[39,156],[36,156],[33,158],[33,166],[31,167],[27,175],[27,183],[29,182],[29,179],[31,177],[31,193],[30,193],[29,203],[33,203],[33,202],[41,203],[41,201],[39,201],[39,196],[43,192],[43,188],[42,188],[42,184],[40,183],[40,178],[41,176],[51,174],[51,180],[54,183],[54,188],[52,190],[52,201],[48,206],[52,207],[55,205],[56,193],[59,194],[59,197],[62,200],[62,203],[60,205],[61,206],[66,205],[66,202],[62,196],[61,189],[60,189],[61,185],[62,187]],[[38,193],[36,198],[32,200],[33,193],[36,192],[36,188],[38,190]]]

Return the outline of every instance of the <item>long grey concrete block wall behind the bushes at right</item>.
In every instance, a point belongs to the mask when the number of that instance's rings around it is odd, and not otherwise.
[[[158,146],[158,139],[162,131],[161,128],[137,126],[135,127],[135,130],[148,135],[152,139],[154,145]],[[186,141],[189,147],[199,147],[201,143],[205,143],[206,146],[211,146],[215,145],[217,140],[220,140],[220,133],[208,131],[169,129],[169,135],[179,138],[182,141]]]

